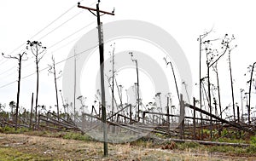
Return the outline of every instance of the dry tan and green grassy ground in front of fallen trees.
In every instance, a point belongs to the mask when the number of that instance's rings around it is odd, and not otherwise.
[[[108,144],[108,153],[108,157],[103,157],[101,142],[0,134],[0,160],[256,160],[203,150],[163,150],[129,143]]]

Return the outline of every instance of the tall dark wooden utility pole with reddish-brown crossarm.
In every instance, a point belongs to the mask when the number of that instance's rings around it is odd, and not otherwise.
[[[97,17],[97,26],[98,26],[98,37],[99,37],[99,51],[100,51],[100,66],[101,66],[101,89],[102,89],[102,123],[103,123],[103,139],[104,139],[104,156],[108,156],[108,129],[107,129],[107,120],[106,120],[106,105],[105,105],[105,85],[104,85],[104,43],[103,43],[103,33],[102,33],[102,23],[101,23],[101,15],[102,14],[110,14],[114,15],[113,12],[109,13],[106,11],[100,10],[99,7],[100,0],[98,0],[98,3],[96,4],[96,9],[88,8],[81,6],[80,3],[78,3],[78,7],[81,9],[87,9],[90,11],[90,13],[96,15]],[[92,11],[96,11],[96,14]]]

